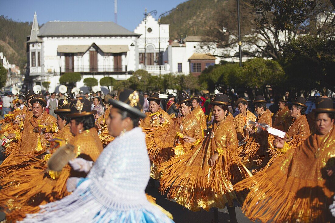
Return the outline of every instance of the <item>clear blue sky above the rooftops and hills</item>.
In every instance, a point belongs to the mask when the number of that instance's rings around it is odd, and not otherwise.
[[[118,24],[133,31],[141,22],[144,9],[157,10],[158,16],[186,0],[118,0]],[[15,21],[113,21],[114,0],[0,0],[0,15]]]

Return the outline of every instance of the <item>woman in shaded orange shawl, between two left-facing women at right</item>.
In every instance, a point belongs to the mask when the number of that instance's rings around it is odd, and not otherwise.
[[[272,116],[272,127],[280,131],[287,132],[291,125],[290,110],[287,107],[287,97],[285,95],[279,98],[278,111]]]

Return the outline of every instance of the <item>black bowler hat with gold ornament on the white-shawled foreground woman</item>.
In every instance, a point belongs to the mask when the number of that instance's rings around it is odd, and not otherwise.
[[[128,111],[129,113],[140,118],[146,117],[146,115],[141,112],[142,105],[144,103],[144,97],[143,95],[139,94],[138,91],[131,89],[120,90],[118,92],[118,99],[110,99],[109,103],[113,105],[113,107]]]

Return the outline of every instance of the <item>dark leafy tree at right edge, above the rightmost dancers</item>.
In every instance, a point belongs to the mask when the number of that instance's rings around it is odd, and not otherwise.
[[[306,97],[324,87],[335,91],[335,39],[299,36],[284,46],[282,63],[289,77],[285,86]]]

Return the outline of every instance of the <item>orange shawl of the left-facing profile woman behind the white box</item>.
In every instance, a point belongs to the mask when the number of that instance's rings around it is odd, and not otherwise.
[[[299,116],[295,121],[293,121],[292,125],[289,127],[287,135],[288,138],[293,137],[293,139],[287,143],[291,149],[300,146],[305,141],[305,139],[307,139],[311,135],[305,115]],[[275,159],[282,155],[283,153],[281,153],[279,150],[270,149],[269,156],[271,157],[271,159],[264,167],[264,169],[268,168]]]

